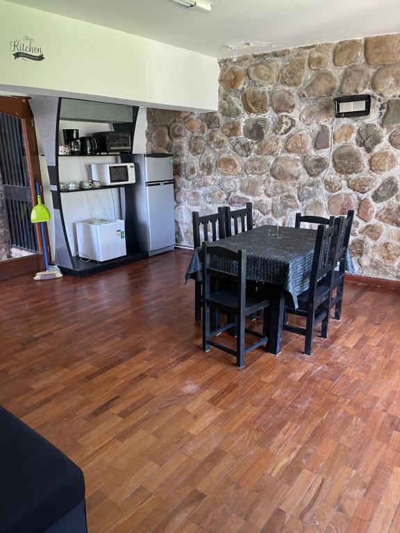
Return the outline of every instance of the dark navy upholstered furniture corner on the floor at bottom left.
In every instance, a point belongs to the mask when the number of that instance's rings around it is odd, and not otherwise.
[[[0,533],[87,533],[81,468],[0,407]]]

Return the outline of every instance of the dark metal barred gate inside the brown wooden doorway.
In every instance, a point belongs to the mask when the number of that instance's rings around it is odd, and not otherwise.
[[[11,246],[38,251],[31,223],[32,193],[22,119],[0,112],[0,180],[10,230]]]

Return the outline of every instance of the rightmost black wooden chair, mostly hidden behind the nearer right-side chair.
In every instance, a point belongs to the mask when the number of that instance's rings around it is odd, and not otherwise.
[[[353,225],[354,211],[347,212],[347,217],[342,221],[340,235],[338,237],[338,246],[335,257],[335,267],[338,269],[333,271],[333,291],[336,290],[336,295],[331,299],[331,307],[335,306],[334,317],[340,320],[342,314],[342,301],[344,291],[344,273],[346,271],[346,256],[347,248],[349,248],[349,240],[351,235],[351,226]]]

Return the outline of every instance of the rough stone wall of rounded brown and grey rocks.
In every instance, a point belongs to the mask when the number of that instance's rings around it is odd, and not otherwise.
[[[218,112],[148,110],[148,151],[174,154],[176,242],[192,245],[192,210],[252,201],[257,225],[293,225],[326,201],[331,214],[356,210],[356,270],[399,278],[400,35],[219,65]],[[360,93],[370,115],[333,129],[333,97]]]

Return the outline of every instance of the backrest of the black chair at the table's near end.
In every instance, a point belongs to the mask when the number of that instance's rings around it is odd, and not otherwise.
[[[229,285],[236,286],[237,305],[242,311],[246,305],[246,250],[233,252],[222,246],[210,246],[203,242],[203,297],[210,296],[210,280],[213,278],[213,287],[218,290],[220,281],[228,281]],[[233,272],[232,272],[233,271]]]

